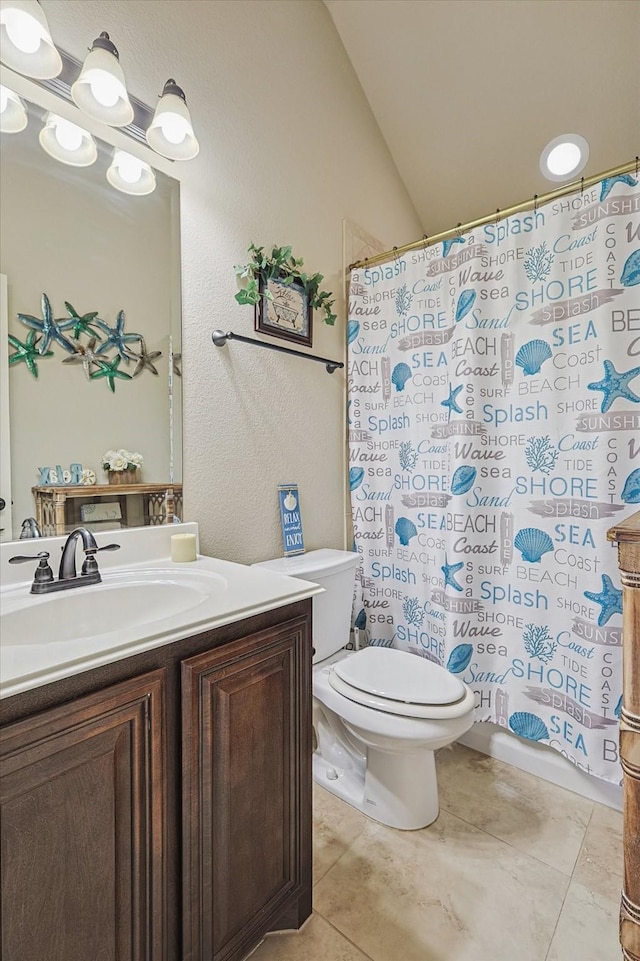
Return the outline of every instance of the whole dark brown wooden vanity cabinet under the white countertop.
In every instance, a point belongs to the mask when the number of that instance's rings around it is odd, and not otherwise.
[[[310,599],[0,720],[7,961],[240,961],[310,915]]]

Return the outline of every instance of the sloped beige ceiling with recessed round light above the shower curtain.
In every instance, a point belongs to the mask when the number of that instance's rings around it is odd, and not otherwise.
[[[324,2],[426,234],[555,189],[560,134],[640,153],[640,0]]]

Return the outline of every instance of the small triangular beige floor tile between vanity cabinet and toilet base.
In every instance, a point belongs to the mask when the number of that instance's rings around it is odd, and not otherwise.
[[[313,785],[313,882],[319,881],[362,833],[368,818]]]

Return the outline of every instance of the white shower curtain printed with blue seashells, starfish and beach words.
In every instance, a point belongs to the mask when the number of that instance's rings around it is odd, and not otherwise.
[[[640,505],[637,176],[354,269],[348,341],[355,626],[620,783],[606,531]]]

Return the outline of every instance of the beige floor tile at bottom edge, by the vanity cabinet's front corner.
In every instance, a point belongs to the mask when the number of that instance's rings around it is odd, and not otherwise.
[[[369,961],[338,931],[313,914],[301,931],[270,934],[251,961]]]

